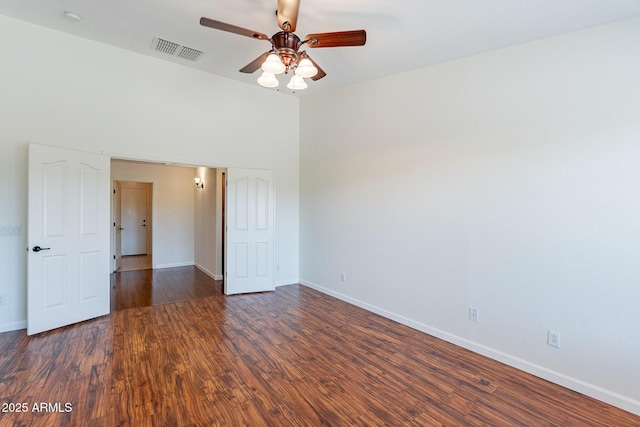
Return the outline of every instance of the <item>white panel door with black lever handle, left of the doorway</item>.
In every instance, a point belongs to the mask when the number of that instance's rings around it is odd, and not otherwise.
[[[109,313],[108,157],[29,146],[27,333]]]

